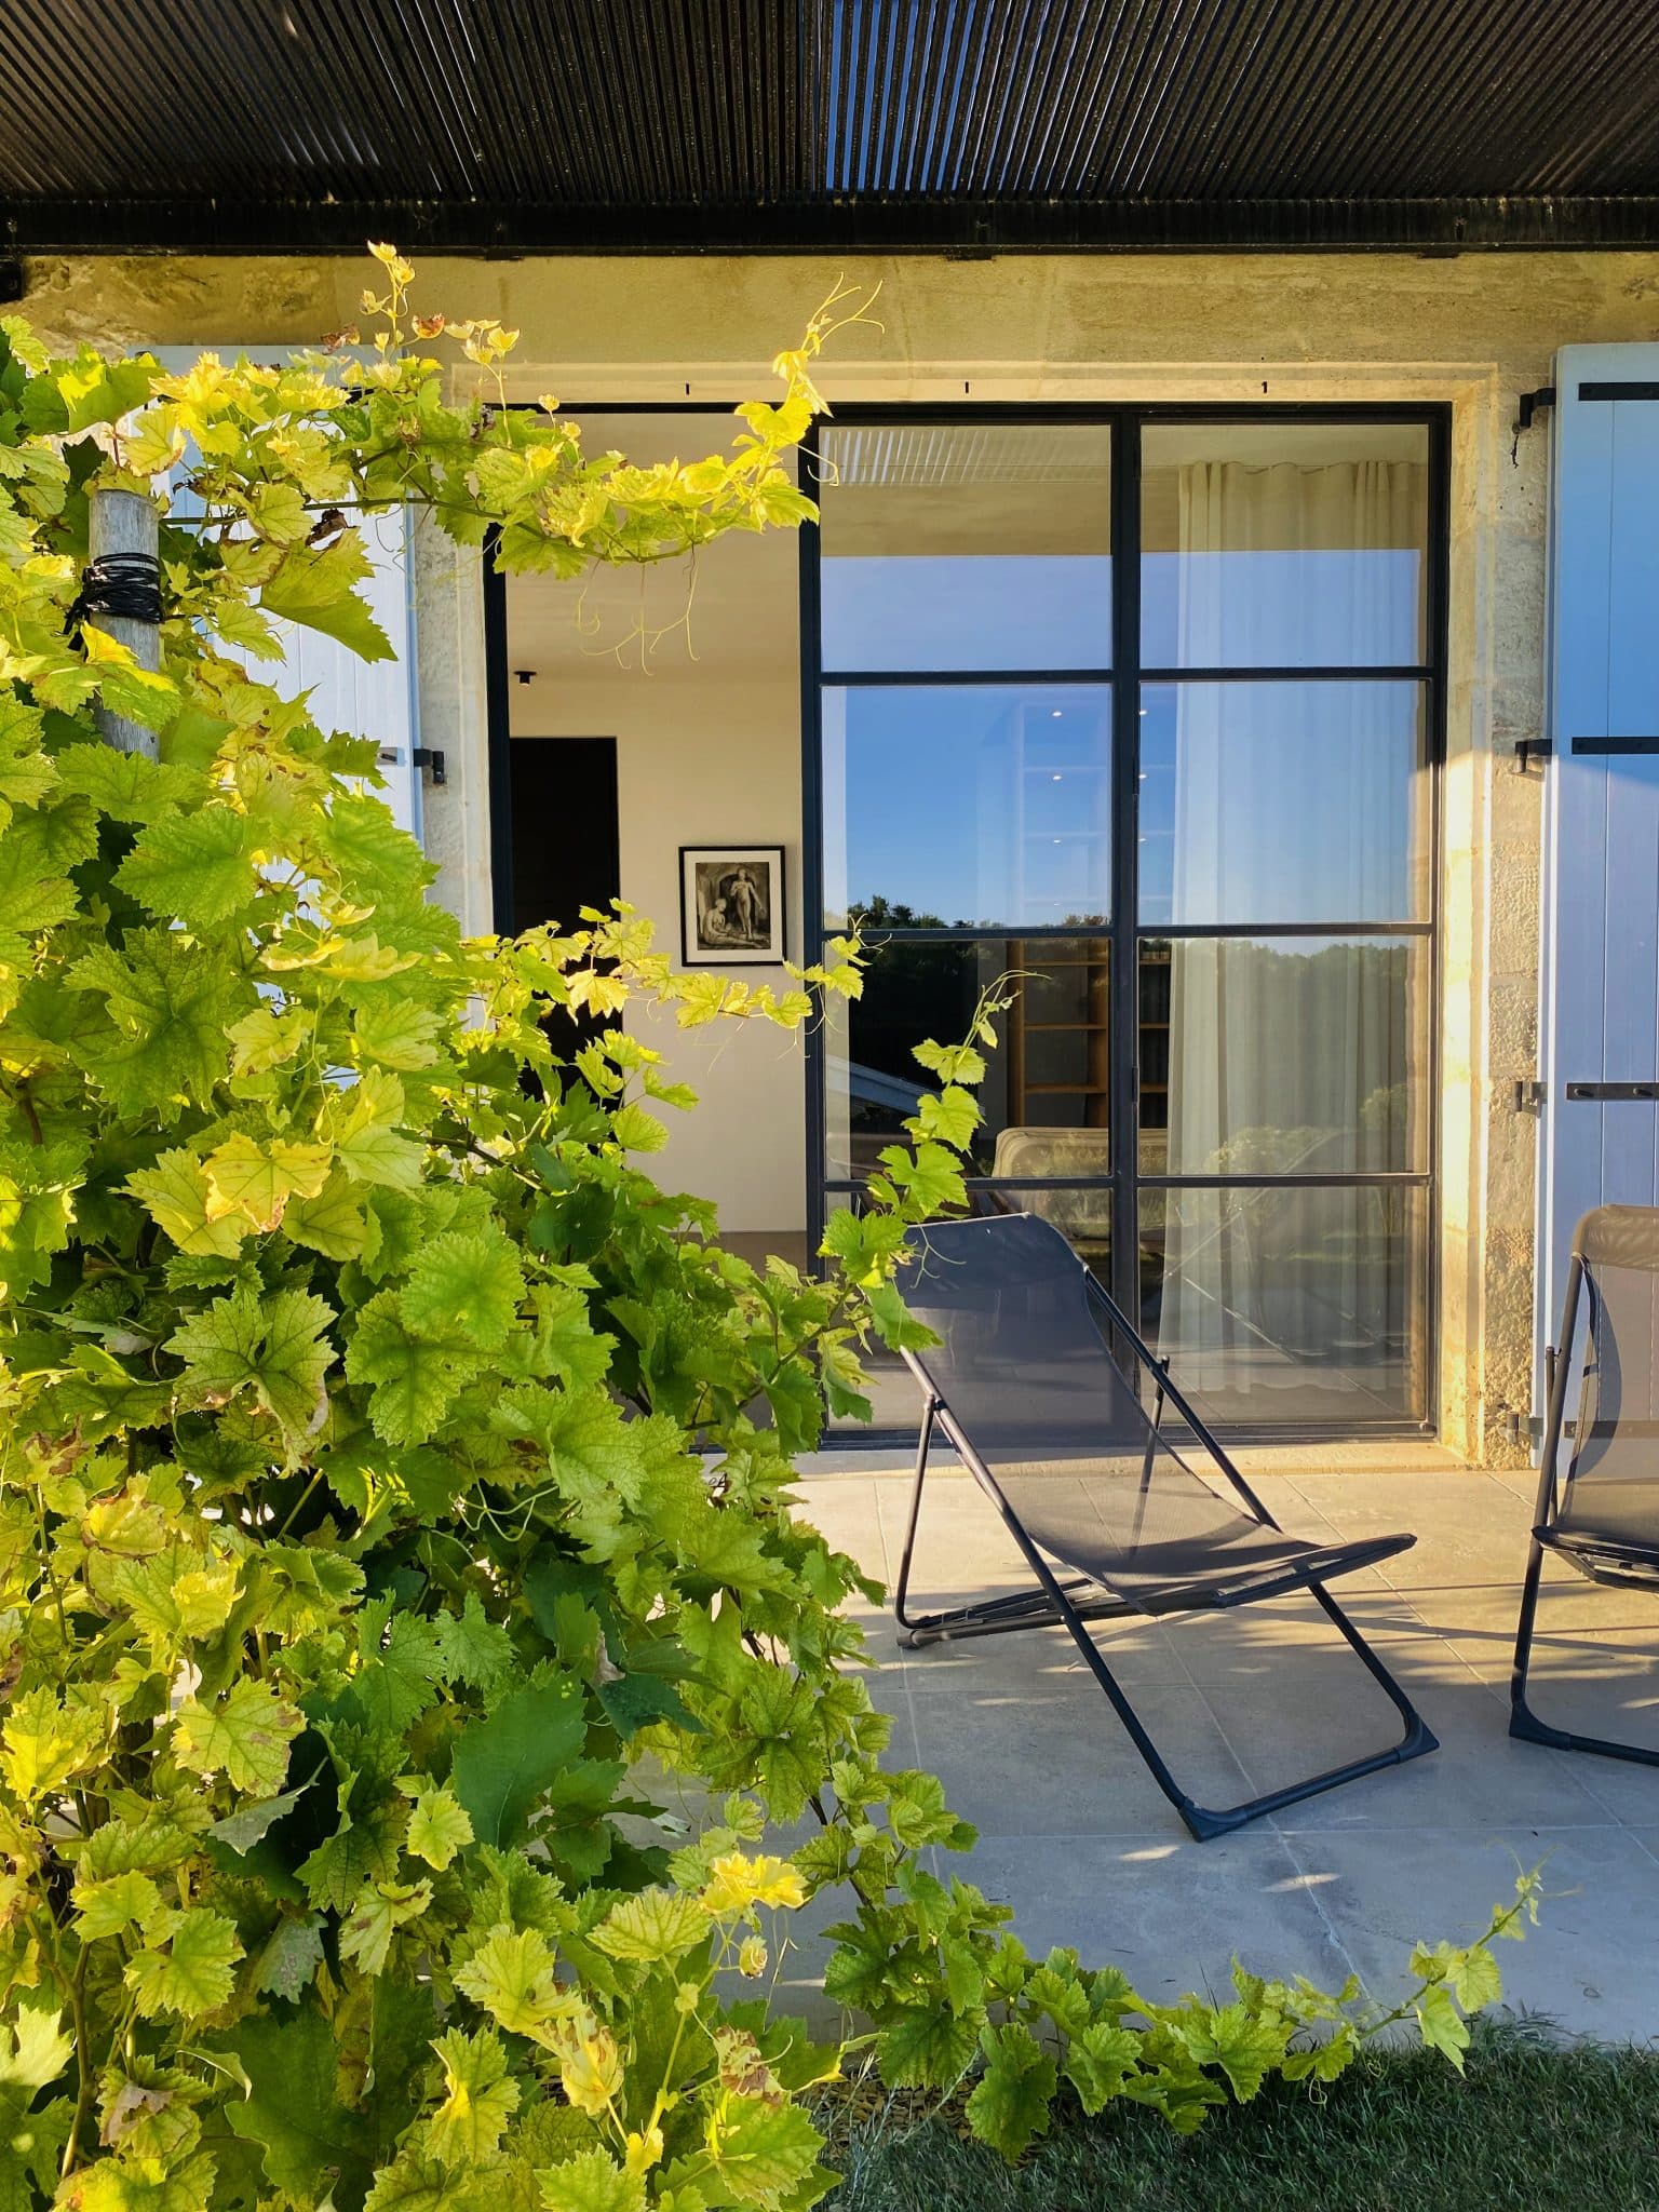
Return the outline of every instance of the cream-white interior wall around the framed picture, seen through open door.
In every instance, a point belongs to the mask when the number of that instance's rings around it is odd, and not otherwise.
[[[723,416],[608,416],[584,422],[588,451],[633,460],[699,458],[726,445]],[[657,925],[679,967],[679,847],[783,845],[785,951],[801,958],[799,540],[768,531],[719,540],[695,571],[670,564],[597,575],[586,586],[513,580],[507,599],[515,737],[615,737],[622,896]],[[690,599],[688,599],[690,593]],[[639,624],[664,630],[646,653]],[[615,650],[622,646],[622,650]],[[573,920],[573,916],[557,916]],[[787,987],[772,967],[726,969]],[[639,1020],[677,1079],[701,1097],[668,1115],[666,1183],[714,1199],[737,1232],[805,1228],[805,1060],[799,1035],[721,1022],[679,1031]]]

